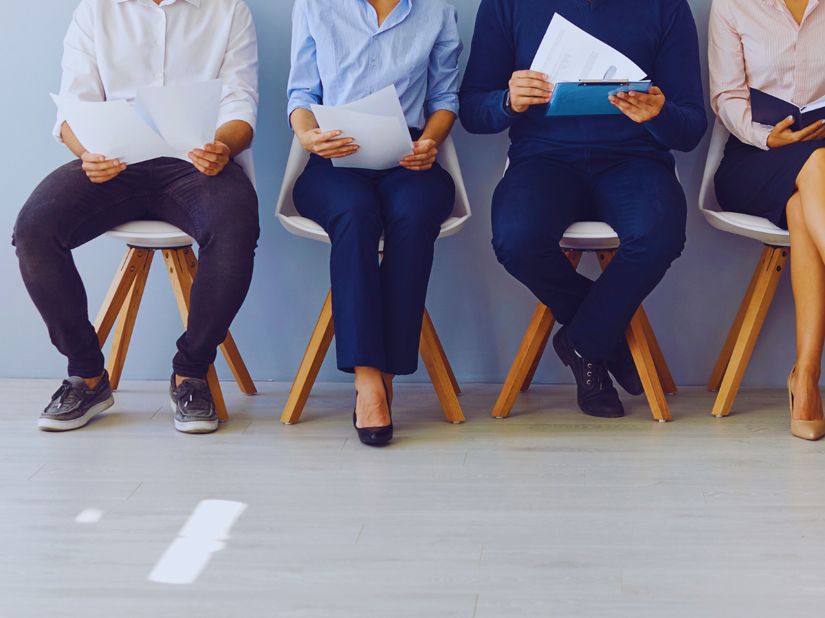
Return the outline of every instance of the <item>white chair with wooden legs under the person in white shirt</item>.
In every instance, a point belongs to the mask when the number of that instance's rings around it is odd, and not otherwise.
[[[254,186],[255,168],[252,162],[252,150],[247,149],[242,152],[235,157],[235,162],[243,168]],[[109,293],[106,294],[106,299],[95,320],[95,330],[101,348],[106,343],[112,326],[115,326],[115,321],[117,322],[109,361],[106,364],[111,386],[117,389],[154,252],[156,250],[163,252],[163,261],[172,282],[184,328],[186,328],[186,321],[189,317],[189,291],[195,279],[198,260],[192,250],[195,239],[173,226],[172,223],[130,221],[106,232],[106,236],[124,241],[127,246],[120,269],[115,274]],[[229,332],[226,334],[224,343],[220,345],[220,350],[224,353],[224,358],[241,391],[246,395],[254,395],[257,392],[255,384]],[[222,421],[229,419],[214,365],[210,366],[206,382],[209,383],[219,419]]]

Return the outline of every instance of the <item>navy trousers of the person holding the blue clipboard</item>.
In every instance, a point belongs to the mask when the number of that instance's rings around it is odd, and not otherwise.
[[[512,162],[493,194],[493,248],[585,358],[615,360],[639,305],[685,246],[687,206],[667,152],[565,148]],[[576,221],[603,221],[620,247],[601,276],[559,247]]]

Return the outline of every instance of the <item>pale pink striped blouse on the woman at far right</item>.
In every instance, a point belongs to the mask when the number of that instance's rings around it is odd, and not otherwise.
[[[708,30],[710,106],[742,142],[767,150],[748,87],[802,106],[825,96],[825,7],[797,24],[784,0],[714,0]]]

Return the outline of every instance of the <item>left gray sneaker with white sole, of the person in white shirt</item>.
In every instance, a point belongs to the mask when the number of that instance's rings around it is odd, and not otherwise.
[[[108,410],[115,403],[111,395],[109,372],[104,371],[101,381],[94,388],[86,386],[82,377],[72,376],[52,396],[52,400],[37,426],[43,431],[68,431],[87,424],[92,417]]]

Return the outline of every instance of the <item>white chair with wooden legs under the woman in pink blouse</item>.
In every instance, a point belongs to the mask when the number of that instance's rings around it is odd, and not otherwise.
[[[759,331],[768,307],[776,291],[785,262],[790,256],[790,234],[776,227],[766,218],[742,213],[726,213],[719,209],[714,190],[714,175],[722,161],[724,145],[728,140],[728,129],[717,120],[710,138],[705,175],[699,193],[699,209],[705,219],[718,230],[738,236],[746,236],[765,245],[747,288],[742,306],[733,320],[733,326],[725,340],[722,353],[710,376],[708,389],[719,391],[714,403],[714,416],[727,416],[736,399],[742,376],[751,358],[753,346],[757,343]]]

